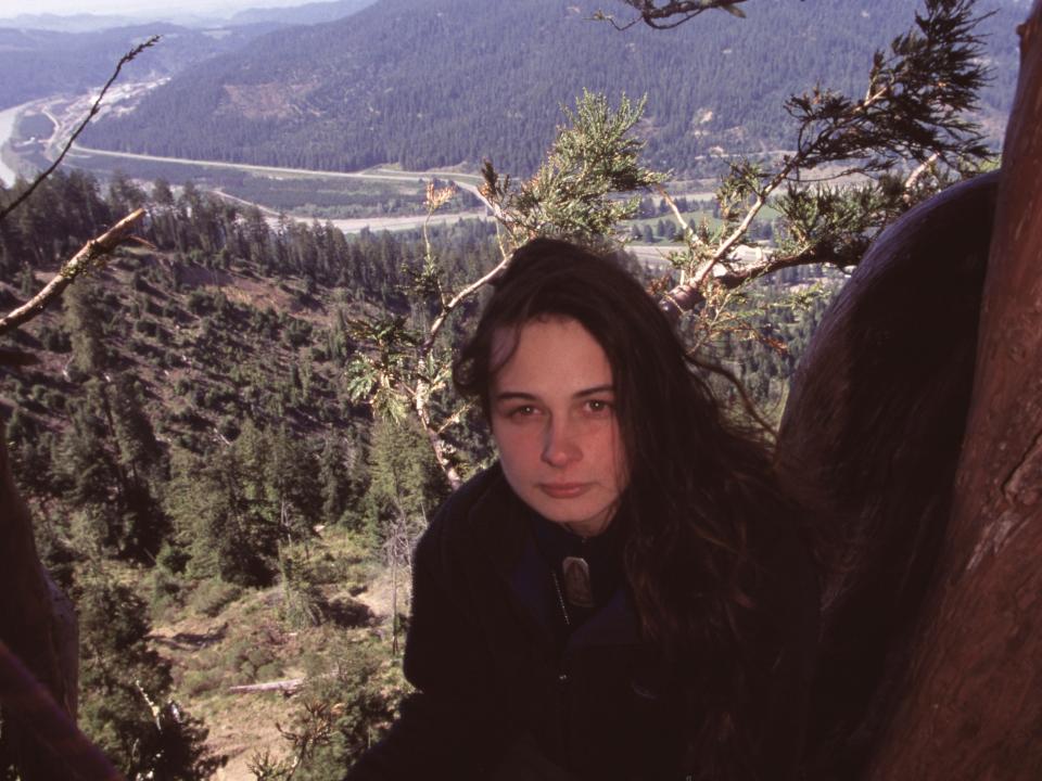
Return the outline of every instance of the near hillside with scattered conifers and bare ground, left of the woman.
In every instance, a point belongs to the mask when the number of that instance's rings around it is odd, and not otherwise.
[[[41,556],[80,614],[80,724],[130,777],[165,754],[183,763],[179,778],[201,778],[206,728],[175,719],[157,737],[150,701],[173,696],[224,725],[231,737],[214,735],[212,750],[252,753],[278,742],[274,722],[290,714],[264,700],[244,714],[227,687],[325,674],[348,642],[377,643],[348,658],[369,679],[390,650],[355,600],[381,571],[392,505],[380,470],[412,469],[419,477],[394,485],[428,508],[444,485],[410,430],[373,428],[344,368],[353,321],[404,308],[420,249],[417,236],[276,231],[191,185],[175,196],[157,182],[148,197],[117,181],[102,195],[72,174],[0,222],[3,309],[138,203],[155,249],[122,253],[62,309],[4,338],[40,362],[4,371],[0,407]],[[481,223],[433,242],[460,274],[494,251]],[[277,593],[253,590],[277,581]],[[247,606],[224,638],[226,607]]]

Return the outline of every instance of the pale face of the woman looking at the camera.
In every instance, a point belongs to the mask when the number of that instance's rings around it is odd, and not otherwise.
[[[492,349],[493,366],[510,355],[490,399],[507,482],[548,521],[584,537],[599,534],[627,482],[608,356],[569,318],[503,330]]]

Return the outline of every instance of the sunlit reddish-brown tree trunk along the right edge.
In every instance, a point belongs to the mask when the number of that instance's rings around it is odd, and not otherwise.
[[[1042,0],[1020,36],[951,522],[878,781],[1042,778]]]

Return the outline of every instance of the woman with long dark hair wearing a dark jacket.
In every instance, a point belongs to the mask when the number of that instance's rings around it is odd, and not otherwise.
[[[811,559],[640,285],[530,242],[454,380],[499,462],[420,540],[418,693],[351,778],[795,778]]]

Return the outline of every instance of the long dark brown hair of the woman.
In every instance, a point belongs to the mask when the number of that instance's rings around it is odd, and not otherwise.
[[[766,448],[722,412],[664,313],[617,260],[537,239],[495,283],[454,366],[457,389],[486,415],[493,336],[545,316],[572,318],[612,369],[630,482],[617,515],[624,565],[644,637],[698,714],[689,757],[696,778],[750,777],[744,745],[748,701],[741,626],[754,612],[750,524],[786,507]],[[500,363],[504,359],[500,359]]]

